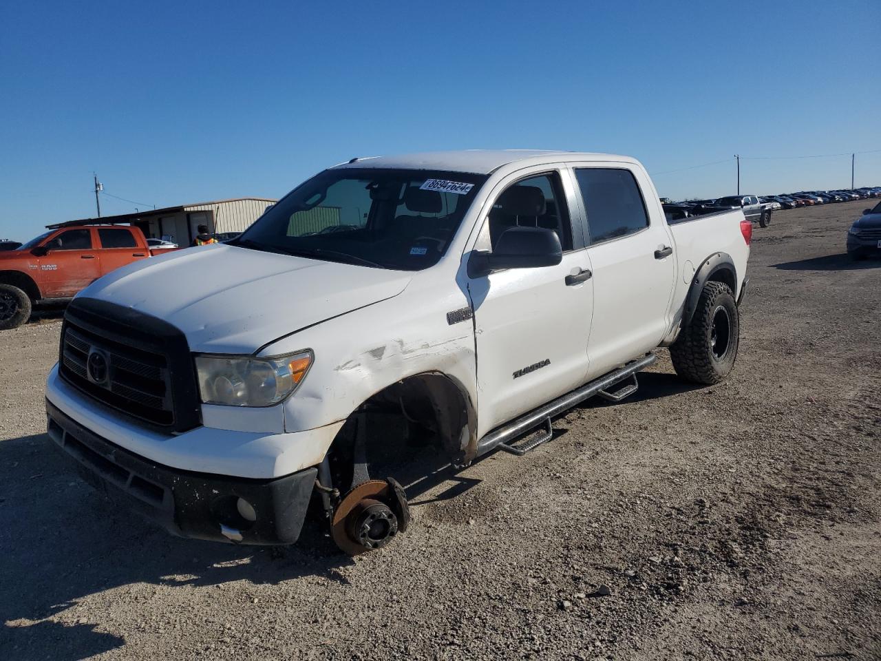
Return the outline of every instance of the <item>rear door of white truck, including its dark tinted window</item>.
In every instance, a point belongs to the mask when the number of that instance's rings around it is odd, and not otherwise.
[[[593,269],[590,378],[648,352],[670,327],[676,255],[648,177],[623,164],[574,164]]]

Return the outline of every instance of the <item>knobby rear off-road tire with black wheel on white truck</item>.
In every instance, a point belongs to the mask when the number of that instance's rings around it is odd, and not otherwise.
[[[728,322],[728,334],[722,338],[724,319]],[[717,348],[722,340],[725,342],[723,352],[721,346]],[[712,385],[722,381],[734,367],[739,344],[740,318],[734,293],[722,282],[707,282],[692,322],[679,332],[676,342],[670,346],[670,358],[680,378]]]

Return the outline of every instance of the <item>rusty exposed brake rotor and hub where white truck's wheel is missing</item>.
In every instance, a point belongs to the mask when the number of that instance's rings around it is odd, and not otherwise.
[[[394,479],[371,479],[345,494],[337,505],[330,534],[349,555],[386,546],[407,530],[410,509],[403,488]]]

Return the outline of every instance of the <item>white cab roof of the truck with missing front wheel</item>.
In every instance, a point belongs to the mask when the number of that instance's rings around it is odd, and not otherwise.
[[[540,149],[468,149],[458,152],[422,152],[396,156],[366,156],[340,163],[337,167],[388,167],[403,170],[448,170],[489,175],[500,167],[518,160],[536,157],[553,160],[614,160],[634,162],[626,156],[588,152],[553,152]]]

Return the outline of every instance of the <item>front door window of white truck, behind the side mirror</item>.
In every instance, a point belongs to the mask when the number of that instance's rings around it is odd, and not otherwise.
[[[557,173],[522,179],[503,190],[489,215],[490,241],[495,248],[509,227],[544,227],[559,237],[563,251],[572,249],[572,224]]]

